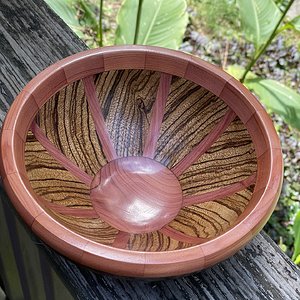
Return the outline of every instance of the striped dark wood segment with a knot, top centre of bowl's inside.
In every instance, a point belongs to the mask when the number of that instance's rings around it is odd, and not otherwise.
[[[97,97],[119,157],[143,154],[159,79],[159,72],[147,70],[110,71],[97,77]]]

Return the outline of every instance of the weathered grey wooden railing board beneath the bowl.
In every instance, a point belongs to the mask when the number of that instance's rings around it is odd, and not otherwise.
[[[49,64],[86,46],[41,0],[0,0],[0,119],[22,87]],[[159,281],[103,275],[40,243],[77,299],[300,299],[300,271],[259,234],[232,258]]]

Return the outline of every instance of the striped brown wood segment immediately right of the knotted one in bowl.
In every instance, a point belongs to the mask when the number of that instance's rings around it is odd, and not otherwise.
[[[155,159],[169,168],[175,166],[211,132],[227,109],[206,89],[173,76]]]

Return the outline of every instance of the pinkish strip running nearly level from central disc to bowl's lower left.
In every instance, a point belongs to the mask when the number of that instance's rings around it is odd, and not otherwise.
[[[50,208],[56,213],[60,213],[62,215],[69,215],[81,218],[99,218],[98,214],[93,208],[67,207],[64,205],[48,202],[47,200],[44,200],[41,197],[39,197],[39,199],[47,208]]]

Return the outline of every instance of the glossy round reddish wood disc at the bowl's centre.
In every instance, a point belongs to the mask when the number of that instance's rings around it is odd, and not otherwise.
[[[125,157],[105,165],[91,185],[91,201],[101,219],[113,227],[143,233],[162,228],[182,206],[174,174],[146,157]]]

